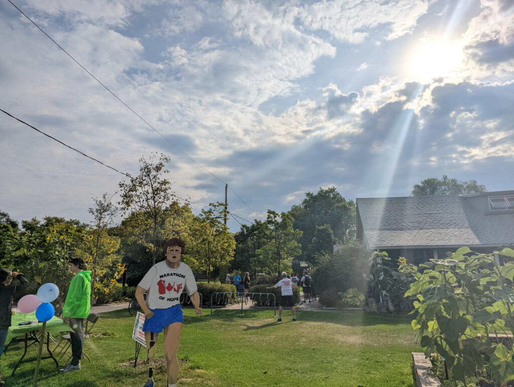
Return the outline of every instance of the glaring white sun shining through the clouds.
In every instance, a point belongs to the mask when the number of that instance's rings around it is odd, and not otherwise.
[[[428,83],[454,75],[461,63],[462,46],[458,42],[430,40],[420,42],[409,53],[405,72],[414,81]]]

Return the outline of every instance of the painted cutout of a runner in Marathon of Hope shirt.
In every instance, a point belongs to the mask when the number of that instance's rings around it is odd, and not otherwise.
[[[178,377],[177,350],[184,322],[180,308],[180,294],[186,289],[195,312],[201,315],[200,296],[191,268],[180,262],[186,244],[171,238],[162,245],[164,261],[152,266],[139,283],[136,299],[144,312],[146,348],[148,349],[148,381],[144,387],[153,387],[153,362],[157,337],[164,330],[164,356],[168,365],[168,387],[176,387]],[[146,305],[143,294],[148,291]]]

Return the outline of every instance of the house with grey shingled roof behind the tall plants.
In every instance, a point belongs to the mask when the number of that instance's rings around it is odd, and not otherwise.
[[[357,198],[357,238],[370,249],[420,264],[468,246],[514,245],[514,191]]]

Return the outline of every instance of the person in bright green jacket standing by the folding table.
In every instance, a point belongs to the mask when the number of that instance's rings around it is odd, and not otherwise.
[[[72,332],[71,362],[61,368],[61,372],[80,370],[82,358],[82,346],[84,344],[84,319],[91,311],[91,271],[85,270],[86,265],[80,258],[69,261],[69,270],[75,273],[75,277],[69,284],[68,294],[63,307],[64,321],[69,323]]]

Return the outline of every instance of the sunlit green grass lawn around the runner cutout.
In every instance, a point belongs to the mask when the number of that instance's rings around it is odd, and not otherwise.
[[[419,351],[410,319],[402,315],[362,311],[290,311],[276,322],[273,311],[215,310],[209,316],[185,310],[178,352],[178,385],[197,386],[396,386],[412,385],[411,355]],[[82,370],[60,375],[51,359],[42,361],[39,386],[142,386],[145,365],[124,365],[134,359],[134,317],[116,311],[100,315],[86,339]],[[159,337],[162,339],[162,337]],[[23,353],[20,344],[2,356],[8,386],[30,385],[34,363],[12,367]],[[163,357],[159,340],[156,358]],[[35,355],[35,347],[29,355]],[[145,358],[144,347],[141,357]],[[159,362],[161,363],[161,362]],[[156,386],[166,386],[164,365],[156,367]]]

